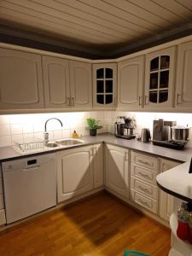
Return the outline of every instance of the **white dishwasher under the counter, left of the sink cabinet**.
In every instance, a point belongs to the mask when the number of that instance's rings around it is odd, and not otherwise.
[[[7,224],[56,205],[55,154],[4,162]]]

